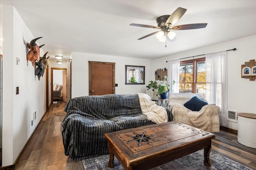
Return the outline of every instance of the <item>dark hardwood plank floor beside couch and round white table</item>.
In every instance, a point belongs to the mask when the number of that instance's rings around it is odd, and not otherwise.
[[[52,116],[54,107],[65,105],[57,102],[49,107],[16,162],[15,170],[83,170],[82,161],[71,161],[64,154],[61,135],[64,115]],[[256,170],[256,149],[239,144],[234,133],[221,130],[214,134],[212,150]]]

